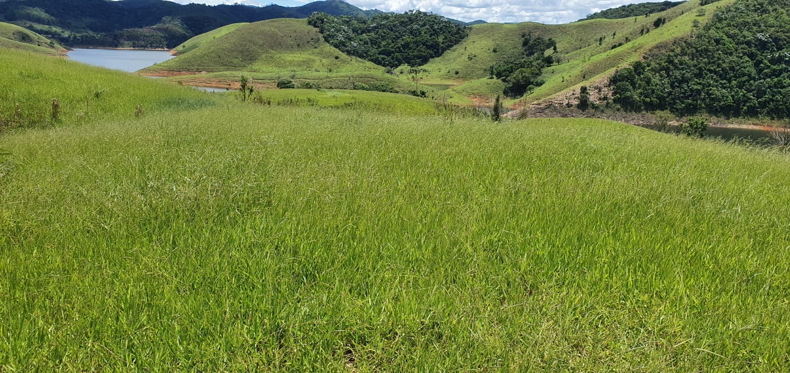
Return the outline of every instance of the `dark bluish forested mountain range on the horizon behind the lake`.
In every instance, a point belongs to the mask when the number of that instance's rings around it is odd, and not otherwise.
[[[194,35],[228,24],[274,18],[307,18],[323,12],[371,17],[340,0],[303,6],[181,5],[164,0],[7,0],[0,21],[21,25],[70,46],[175,47]]]

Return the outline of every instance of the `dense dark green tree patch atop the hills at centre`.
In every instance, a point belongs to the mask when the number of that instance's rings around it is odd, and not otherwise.
[[[369,18],[314,13],[307,23],[318,28],[333,47],[393,68],[424,65],[468,35],[464,26],[418,10]]]

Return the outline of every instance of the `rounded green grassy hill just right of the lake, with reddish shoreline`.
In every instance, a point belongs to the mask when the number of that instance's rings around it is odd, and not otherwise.
[[[186,84],[235,87],[239,73],[252,77],[258,87],[272,88],[278,80],[317,84],[323,88],[406,91],[412,87],[403,76],[393,76],[382,66],[344,54],[325,43],[305,20],[282,18],[235,24],[199,35],[182,44],[176,58],[143,69],[141,73],[178,76]],[[181,46],[179,46],[181,47]]]

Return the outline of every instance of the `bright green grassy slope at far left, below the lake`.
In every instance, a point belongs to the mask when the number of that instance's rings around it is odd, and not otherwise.
[[[22,50],[0,52],[0,76],[0,131],[135,118],[138,105],[150,114],[216,103],[194,88]]]

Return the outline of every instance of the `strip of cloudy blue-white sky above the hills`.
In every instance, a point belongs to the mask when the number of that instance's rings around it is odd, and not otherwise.
[[[171,0],[181,4],[246,4],[265,6],[301,6],[310,0]],[[402,13],[410,9],[441,14],[460,21],[488,22],[534,21],[544,24],[565,24],[577,21],[599,10],[623,6],[636,0],[346,0],[362,9],[379,9]],[[644,1],[644,0],[640,0]],[[651,0],[660,1],[660,0]]]

